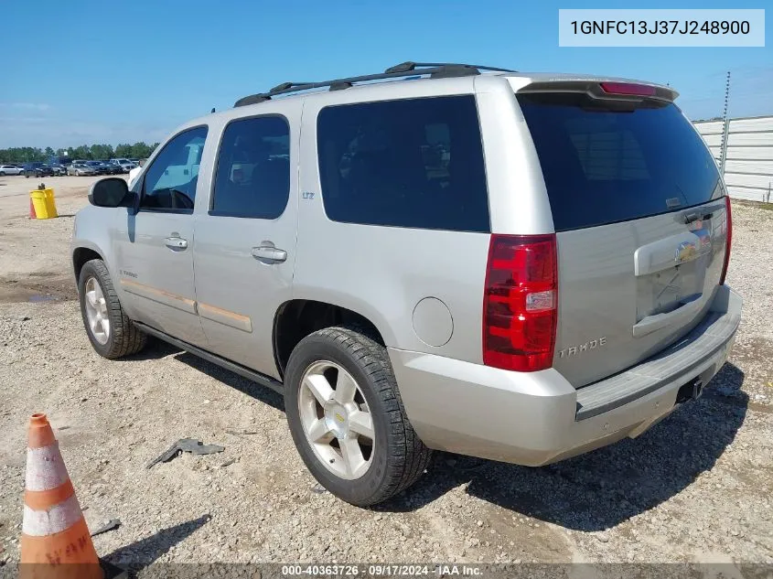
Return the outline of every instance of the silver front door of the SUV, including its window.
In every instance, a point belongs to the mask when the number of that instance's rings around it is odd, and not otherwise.
[[[139,210],[127,210],[114,231],[118,283],[130,316],[175,338],[204,346],[193,283],[193,207],[198,158],[207,127],[177,134],[148,166],[135,189]],[[185,166],[184,169],[181,166]]]

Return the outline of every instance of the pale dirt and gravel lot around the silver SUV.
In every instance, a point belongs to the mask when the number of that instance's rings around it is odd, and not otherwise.
[[[638,440],[537,469],[439,455],[379,509],[319,492],[282,399],[154,343],[92,350],[68,262],[90,179],[46,179],[58,220],[27,219],[32,180],[0,177],[0,562],[18,557],[28,415],[46,412],[114,563],[773,563],[773,211],[734,204],[732,356],[698,402]],[[145,469],[181,437],[226,446]]]

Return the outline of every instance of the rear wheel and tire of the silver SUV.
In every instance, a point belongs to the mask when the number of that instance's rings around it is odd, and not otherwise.
[[[298,343],[285,413],[311,474],[352,505],[410,487],[432,457],[408,422],[386,348],[355,328],[327,327]]]

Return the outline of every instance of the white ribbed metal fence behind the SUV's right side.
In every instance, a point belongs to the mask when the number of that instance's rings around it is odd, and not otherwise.
[[[695,123],[722,166],[722,121]],[[725,151],[725,184],[731,198],[773,200],[773,116],[730,119]]]

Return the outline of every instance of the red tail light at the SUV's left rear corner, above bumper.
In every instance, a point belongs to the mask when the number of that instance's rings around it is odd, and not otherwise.
[[[483,296],[483,363],[531,372],[553,365],[555,235],[491,235]]]

